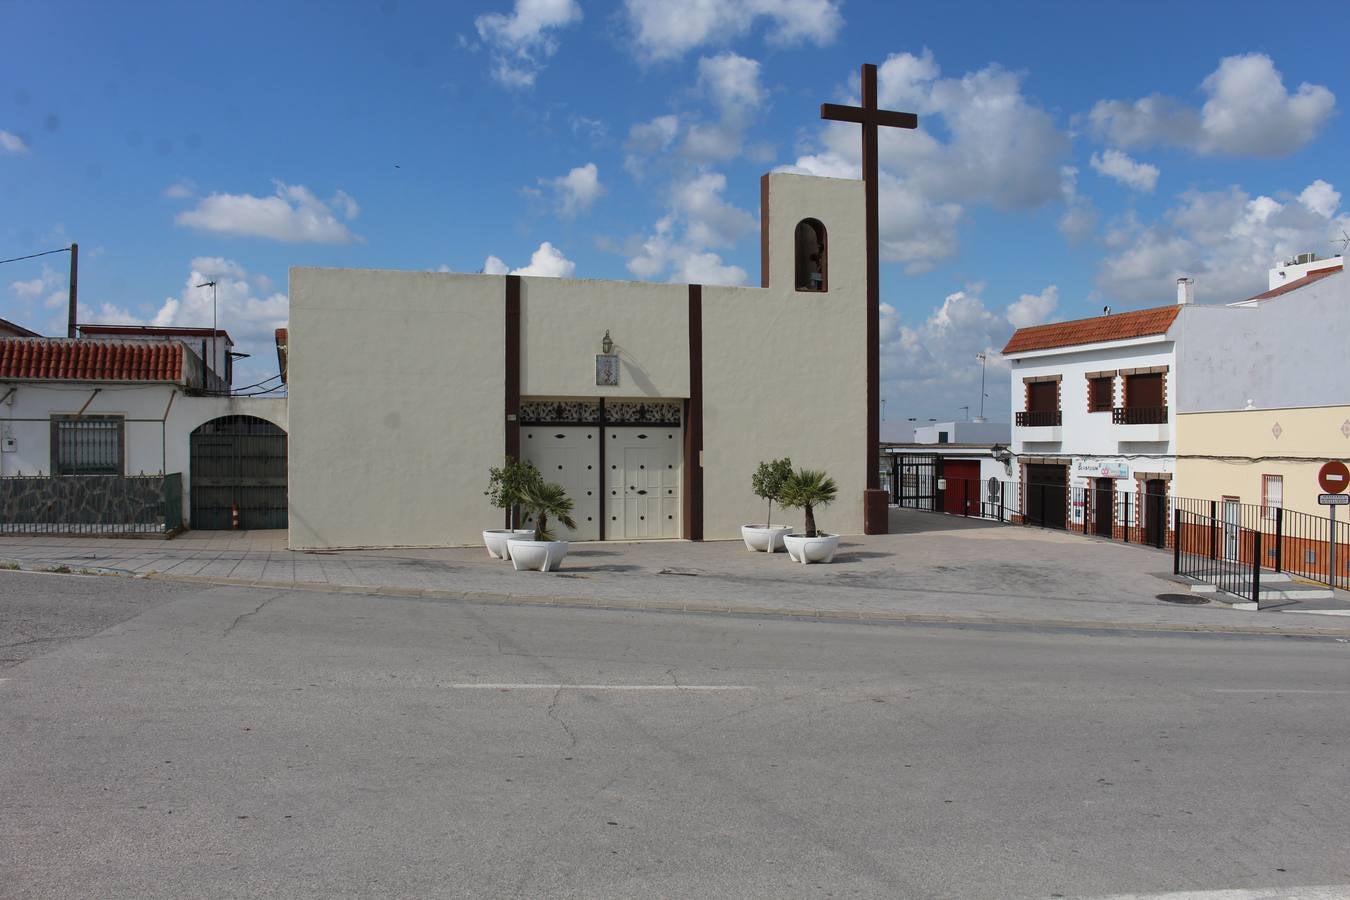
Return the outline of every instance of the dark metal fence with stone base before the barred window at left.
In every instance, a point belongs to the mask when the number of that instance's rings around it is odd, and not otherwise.
[[[0,478],[0,534],[171,534],[182,475]]]

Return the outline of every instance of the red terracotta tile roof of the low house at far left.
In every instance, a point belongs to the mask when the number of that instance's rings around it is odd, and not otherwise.
[[[177,341],[0,339],[0,379],[182,382]]]

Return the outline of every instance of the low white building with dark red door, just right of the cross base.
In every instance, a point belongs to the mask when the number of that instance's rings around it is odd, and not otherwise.
[[[1006,422],[930,422],[914,428],[913,440],[882,444],[891,502],[996,518],[990,505],[1010,475],[1008,440]]]

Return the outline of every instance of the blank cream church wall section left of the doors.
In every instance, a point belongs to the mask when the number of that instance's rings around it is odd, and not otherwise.
[[[290,270],[290,546],[470,544],[500,526],[505,279]]]

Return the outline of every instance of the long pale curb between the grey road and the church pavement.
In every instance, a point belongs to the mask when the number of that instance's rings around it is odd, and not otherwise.
[[[1212,625],[1165,622],[1088,622],[1083,619],[1038,619],[1014,615],[949,615],[941,613],[898,613],[871,610],[787,609],[776,606],[732,606],[725,603],[679,600],[614,600],[583,596],[547,596],[526,594],[498,594],[491,591],[441,591],[413,587],[367,587],[359,584],[329,584],[327,582],[265,582],[239,578],[202,575],[157,575],[144,578],[161,582],[192,584],[219,584],[225,587],[254,587],[284,591],[313,591],[325,594],[364,594],[369,596],[456,600],[479,606],[552,606],[560,609],[616,610],[643,613],[693,613],[703,615],[747,615],[787,619],[830,619],[875,625],[1011,625],[1072,629],[1079,631],[1156,631],[1174,634],[1242,634],[1264,637],[1336,637],[1350,638],[1346,627],[1284,627],[1281,625]]]

